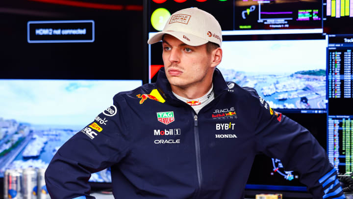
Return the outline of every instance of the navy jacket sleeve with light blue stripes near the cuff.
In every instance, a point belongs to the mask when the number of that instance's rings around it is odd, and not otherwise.
[[[272,110],[255,90],[250,90],[257,110],[255,129],[258,152],[281,160],[286,171],[298,171],[314,199],[345,199],[336,170],[324,148],[297,122]]]

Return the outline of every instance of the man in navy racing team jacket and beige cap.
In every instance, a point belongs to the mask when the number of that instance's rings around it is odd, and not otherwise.
[[[325,150],[298,123],[273,111],[252,88],[225,82],[217,20],[198,8],[174,13],[162,40],[157,82],[114,103],[56,153],[46,171],[50,196],[93,198],[92,172],[111,167],[119,199],[242,199],[254,156],[298,171],[315,199],[344,199]]]

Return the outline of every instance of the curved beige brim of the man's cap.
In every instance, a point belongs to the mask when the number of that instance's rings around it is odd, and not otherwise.
[[[162,40],[164,34],[170,34],[183,43],[190,46],[201,46],[208,42],[208,40],[201,37],[195,36],[193,34],[188,34],[180,31],[161,31],[153,34],[151,38],[147,41],[148,44],[154,44]]]

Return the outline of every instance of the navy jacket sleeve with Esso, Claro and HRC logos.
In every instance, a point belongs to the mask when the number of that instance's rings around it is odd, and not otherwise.
[[[112,106],[56,152],[45,173],[51,199],[94,199],[89,196],[91,173],[118,163],[129,145],[122,104],[124,99],[115,96]]]

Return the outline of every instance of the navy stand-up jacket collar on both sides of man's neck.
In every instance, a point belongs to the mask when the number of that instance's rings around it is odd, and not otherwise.
[[[213,81],[213,90],[215,92],[215,97],[218,96],[222,91],[228,89],[227,83],[224,80],[223,75],[218,68],[216,68],[213,73],[212,81]],[[178,101],[177,98],[172,93],[172,88],[165,74],[164,67],[162,67],[158,71],[156,85],[158,87],[158,90],[161,92],[161,95],[167,101],[170,101],[170,99],[174,99]]]

